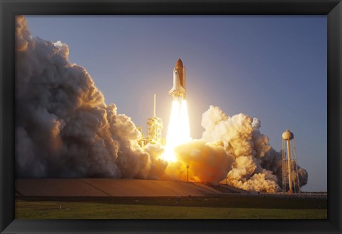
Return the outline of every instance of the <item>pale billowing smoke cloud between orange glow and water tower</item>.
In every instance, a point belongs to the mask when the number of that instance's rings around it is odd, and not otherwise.
[[[269,146],[269,138],[260,133],[261,123],[242,113],[227,116],[217,106],[203,113],[202,138],[222,141],[227,155],[234,158],[229,183],[245,190],[274,193],[281,190],[281,153]],[[307,172],[299,167],[299,183],[307,183]],[[280,186],[279,186],[280,185]]]

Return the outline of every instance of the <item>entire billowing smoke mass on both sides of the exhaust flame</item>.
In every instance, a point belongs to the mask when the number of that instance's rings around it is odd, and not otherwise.
[[[167,163],[162,146],[140,147],[130,117],[106,105],[86,69],[68,62],[68,46],[32,38],[16,18],[16,174],[19,178],[149,178],[229,183],[276,192],[281,153],[260,133],[260,121],[227,116],[210,106],[202,139],[175,149]],[[299,168],[301,185],[307,173]]]

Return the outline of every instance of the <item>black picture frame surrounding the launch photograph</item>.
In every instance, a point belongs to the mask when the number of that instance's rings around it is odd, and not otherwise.
[[[1,233],[341,233],[341,0],[0,0]],[[16,15],[326,15],[328,22],[327,220],[14,219],[14,18]]]

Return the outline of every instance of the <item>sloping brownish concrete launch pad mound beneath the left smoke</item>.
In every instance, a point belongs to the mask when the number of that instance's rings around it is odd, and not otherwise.
[[[159,197],[204,196],[221,193],[200,183],[169,180],[124,180],[109,178],[17,179],[23,196]]]

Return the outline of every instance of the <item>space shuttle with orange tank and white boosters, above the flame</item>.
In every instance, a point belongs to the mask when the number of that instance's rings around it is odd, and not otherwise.
[[[174,98],[182,96],[185,99],[185,91],[185,66],[183,66],[182,60],[178,59],[173,68],[173,87],[169,94]]]

